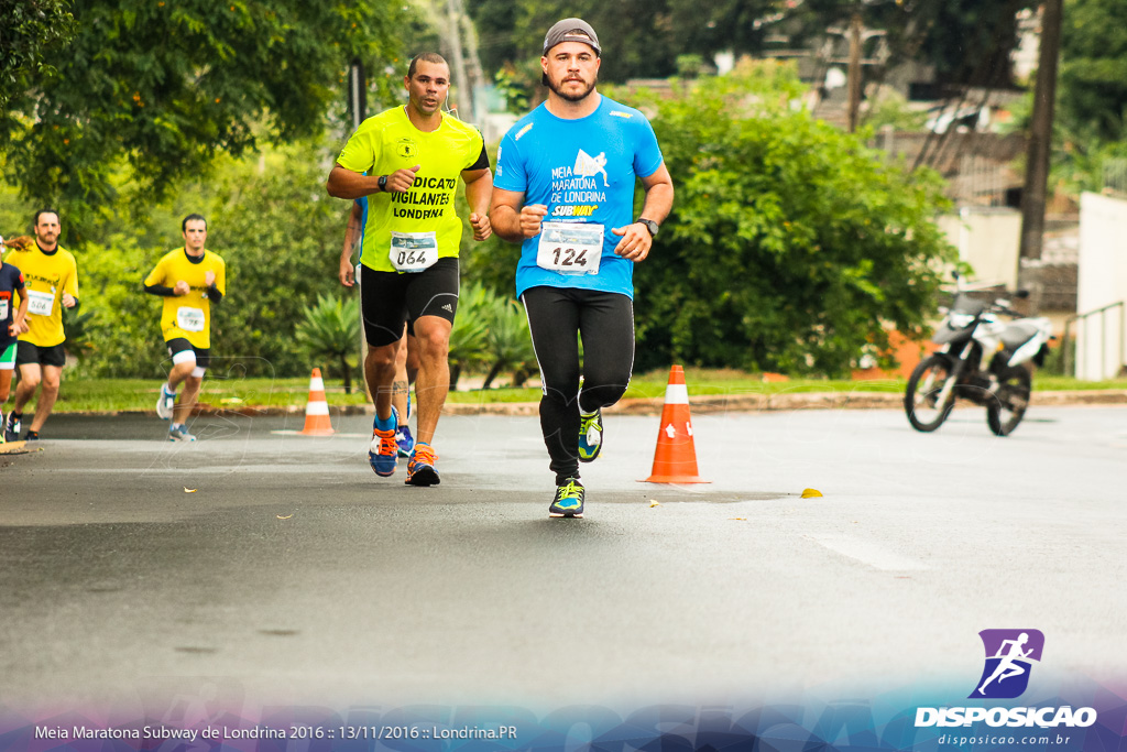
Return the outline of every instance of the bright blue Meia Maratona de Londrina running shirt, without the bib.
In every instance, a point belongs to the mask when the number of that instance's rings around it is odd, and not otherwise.
[[[524,194],[524,203],[548,206],[544,222],[603,225],[597,274],[561,274],[536,265],[540,236],[525,238],[516,267],[516,295],[529,287],[580,287],[633,299],[633,262],[614,253],[611,232],[635,221],[637,177],[662,166],[662,150],[646,116],[607,97],[578,120],[564,120],[540,105],[509,129],[497,151],[494,186]]]

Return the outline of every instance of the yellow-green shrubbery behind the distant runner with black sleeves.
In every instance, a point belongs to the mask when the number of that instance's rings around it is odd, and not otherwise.
[[[201,212],[207,218],[208,249],[227,262],[227,295],[213,309],[212,372],[309,375],[312,364],[295,346],[296,328],[319,297],[340,294],[337,258],[349,210],[323,194],[330,153],[299,143],[260,159],[220,160],[215,179],[186,185],[149,219],[139,220],[125,207],[119,219],[91,225],[97,236],[71,249],[81,313],[89,315],[82,321],[88,352],[79,372],[165,375],[161,301],[145,294],[141,283],[161,256],[183,246],[183,216]],[[0,215],[3,198],[10,196],[0,194]],[[23,221],[29,223],[30,215]],[[357,335],[356,350],[358,342]]]

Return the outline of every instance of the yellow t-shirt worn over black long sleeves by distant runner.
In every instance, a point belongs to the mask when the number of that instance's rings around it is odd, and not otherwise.
[[[204,275],[215,273],[215,287],[227,294],[227,264],[216,254],[204,250],[203,258],[194,262],[184,248],[170,250],[157,262],[157,267],[144,278],[145,285],[160,284],[175,287],[176,283],[188,283],[186,295],[168,295],[160,313],[160,330],[165,342],[184,337],[193,347],[211,347],[211,299]]]

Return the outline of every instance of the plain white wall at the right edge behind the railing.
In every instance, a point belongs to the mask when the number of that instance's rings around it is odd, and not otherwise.
[[[1095,193],[1080,200],[1080,262],[1076,312],[1127,301],[1127,201]],[[1124,306],[1073,321],[1076,378],[1099,381],[1124,366],[1127,331]]]

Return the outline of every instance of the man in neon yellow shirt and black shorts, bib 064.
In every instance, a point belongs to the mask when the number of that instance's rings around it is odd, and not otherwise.
[[[434,486],[438,471],[431,442],[450,386],[447,353],[458,309],[462,222],[454,213],[454,191],[461,178],[473,239],[485,240],[492,232],[487,216],[492,172],[481,134],[442,112],[450,65],[441,55],[417,55],[403,88],[406,106],[370,117],[348,139],[327,188],[337,198],[367,196],[360,242],[369,344],[364,375],[375,399],[369,461],[379,476],[396,471],[391,392],[406,322],[419,348],[418,435],[406,483]]]

